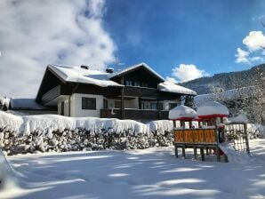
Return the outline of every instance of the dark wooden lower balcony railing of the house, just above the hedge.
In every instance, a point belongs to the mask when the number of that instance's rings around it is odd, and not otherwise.
[[[101,118],[121,119],[121,109],[101,109]],[[144,110],[124,109],[124,119],[131,120],[165,120],[168,119],[168,111],[165,110]]]

